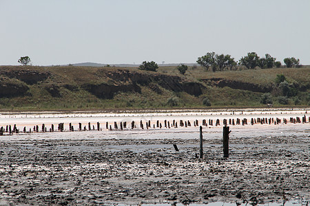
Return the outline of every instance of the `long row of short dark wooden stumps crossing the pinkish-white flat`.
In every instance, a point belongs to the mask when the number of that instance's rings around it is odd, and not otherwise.
[[[254,124],[280,124],[281,122],[283,122],[284,124],[287,124],[287,122],[290,122],[293,124],[301,123],[301,122],[307,123],[307,118],[306,118],[306,115],[304,115],[304,117],[302,117],[302,120],[300,120],[300,117],[296,117],[296,118],[290,117],[289,120],[283,118],[282,121],[279,118],[273,118],[273,117],[271,117],[271,118],[267,118],[267,117],[265,117],[265,118],[260,118],[260,117],[251,118],[251,125],[254,125]],[[309,117],[309,122],[310,122],[310,117]],[[199,126],[198,120],[197,119],[194,120],[193,124],[194,124],[194,126]],[[225,125],[225,126],[227,126],[227,125],[239,125],[239,124],[242,124],[242,125],[248,124],[247,118],[244,118],[244,119],[237,118],[236,122],[235,122],[235,119],[228,119],[228,121],[227,121],[227,119],[223,119],[223,125]],[[207,121],[207,119],[203,119],[202,125],[203,126],[208,126],[208,125],[213,126],[214,125],[213,119],[209,119],[208,121]],[[177,122],[176,120],[173,120],[172,123],[170,124],[170,122],[167,120],[164,120],[164,122],[160,122],[159,120],[157,120],[156,124],[153,124],[153,128],[163,128],[163,127],[165,127],[165,128],[171,128],[171,127],[178,128],[178,126],[181,126],[181,127],[192,126],[192,123],[189,120],[187,120],[187,121],[180,120],[179,122]],[[216,119],[215,126],[220,126],[220,119]],[[132,129],[136,128],[136,122],[132,121],[130,127]],[[105,128],[108,130],[112,130],[113,128],[123,130],[123,128],[127,128],[127,122],[120,122],[119,125],[117,124],[117,122],[114,122],[114,125],[109,124],[109,122],[106,122]],[[141,120],[140,121],[140,128],[142,128],[142,129],[152,128],[151,121],[150,120],[146,121],[145,125],[144,125],[143,121]],[[64,130],[64,123],[59,123],[57,130],[62,132]],[[74,126],[71,123],[69,124],[69,130],[74,131]],[[82,124],[79,123],[78,130],[79,131],[81,131],[81,130],[102,130],[102,128],[100,127],[99,122],[96,123],[96,128],[94,125],[91,125],[90,122],[88,122],[87,126],[84,126],[83,128],[82,128]],[[54,124],[52,124],[49,131],[50,132],[55,131]],[[0,128],[0,135],[3,135],[4,133],[13,134],[13,133],[19,133],[19,132],[20,131],[17,128],[16,124],[14,124],[13,128],[11,125],[7,125],[6,128],[3,128],[3,126],[1,126],[1,128]],[[42,124],[41,130],[39,129],[38,125],[33,126],[33,129],[30,128],[28,131],[26,130],[26,127],[23,128],[23,133],[39,133],[39,132],[42,132],[42,133],[48,132],[48,129],[46,128],[45,124]]]

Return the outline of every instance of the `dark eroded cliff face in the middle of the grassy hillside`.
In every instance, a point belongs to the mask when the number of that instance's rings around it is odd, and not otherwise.
[[[118,69],[116,71],[100,71],[99,76],[105,76],[109,84],[84,84],[83,87],[99,98],[113,98],[117,92],[141,92],[141,86],[147,86],[156,93],[161,93],[161,87],[169,91],[185,91],[190,95],[201,95],[203,85],[188,82],[179,76],[168,76],[161,73],[139,73]],[[140,85],[140,86],[139,86]]]

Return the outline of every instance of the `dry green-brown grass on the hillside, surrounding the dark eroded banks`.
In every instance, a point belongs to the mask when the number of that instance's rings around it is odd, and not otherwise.
[[[231,89],[230,87],[214,87],[206,85],[202,80],[209,78],[222,78],[240,82],[249,82],[259,85],[273,85],[275,89],[271,91],[273,105],[283,106],[278,102],[276,96],[277,91],[274,86],[278,74],[283,74],[287,81],[292,84],[302,86],[303,91],[298,91],[296,97],[288,100],[285,106],[308,106],[310,104],[309,97],[309,79],[310,67],[302,67],[298,69],[251,69],[242,71],[205,71],[202,67],[189,67],[185,75],[180,75],[176,67],[160,67],[156,73],[165,75],[179,76],[184,81],[199,82],[202,87],[203,94],[198,97],[189,95],[185,91],[174,92],[169,89],[163,89],[156,82],[152,82],[161,90],[156,93],[150,89],[148,84],[138,84],[141,92],[127,91],[114,94],[112,99],[101,99],[93,95],[89,91],[83,89],[84,84],[125,84],[119,80],[118,82],[109,75],[114,71],[135,71],[144,73],[148,76],[154,75],[155,72],[141,71],[138,68],[116,68],[116,67],[0,67],[1,71],[23,71],[36,70],[40,72],[49,72],[50,76],[43,82],[28,85],[27,94],[19,97],[2,97],[0,98],[1,111],[55,111],[55,110],[123,110],[123,109],[141,109],[141,108],[206,108],[203,100],[208,98],[211,106],[207,108],[220,107],[263,107],[265,104],[260,102],[262,93],[252,92],[242,89]],[[19,82],[25,84],[21,80],[2,78],[2,82]],[[130,81],[126,80],[126,81]],[[65,85],[71,85],[65,87]],[[49,85],[59,88],[59,97],[53,98],[45,89]],[[154,85],[153,85],[154,86]],[[73,88],[73,89],[72,89]],[[171,98],[177,98],[178,104],[167,104]]]

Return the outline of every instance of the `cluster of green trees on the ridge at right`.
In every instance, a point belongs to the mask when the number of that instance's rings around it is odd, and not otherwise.
[[[299,58],[285,58],[283,61],[287,68],[301,66]],[[205,56],[198,57],[197,63],[205,67],[206,70],[211,68],[212,71],[223,71],[224,69],[232,70],[232,68],[237,65],[245,66],[247,69],[254,69],[255,67],[260,67],[261,69],[281,67],[281,62],[276,61],[276,58],[272,57],[270,54],[265,54],[265,57],[261,58],[256,52],[247,53],[247,56],[243,56],[239,61],[235,61],[229,54],[225,55],[208,52]]]

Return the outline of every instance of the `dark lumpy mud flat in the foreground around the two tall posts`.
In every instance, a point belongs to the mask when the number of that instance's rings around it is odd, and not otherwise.
[[[203,128],[203,159],[198,130],[2,136],[0,205],[310,201],[309,122],[231,126],[225,159],[223,126]]]

